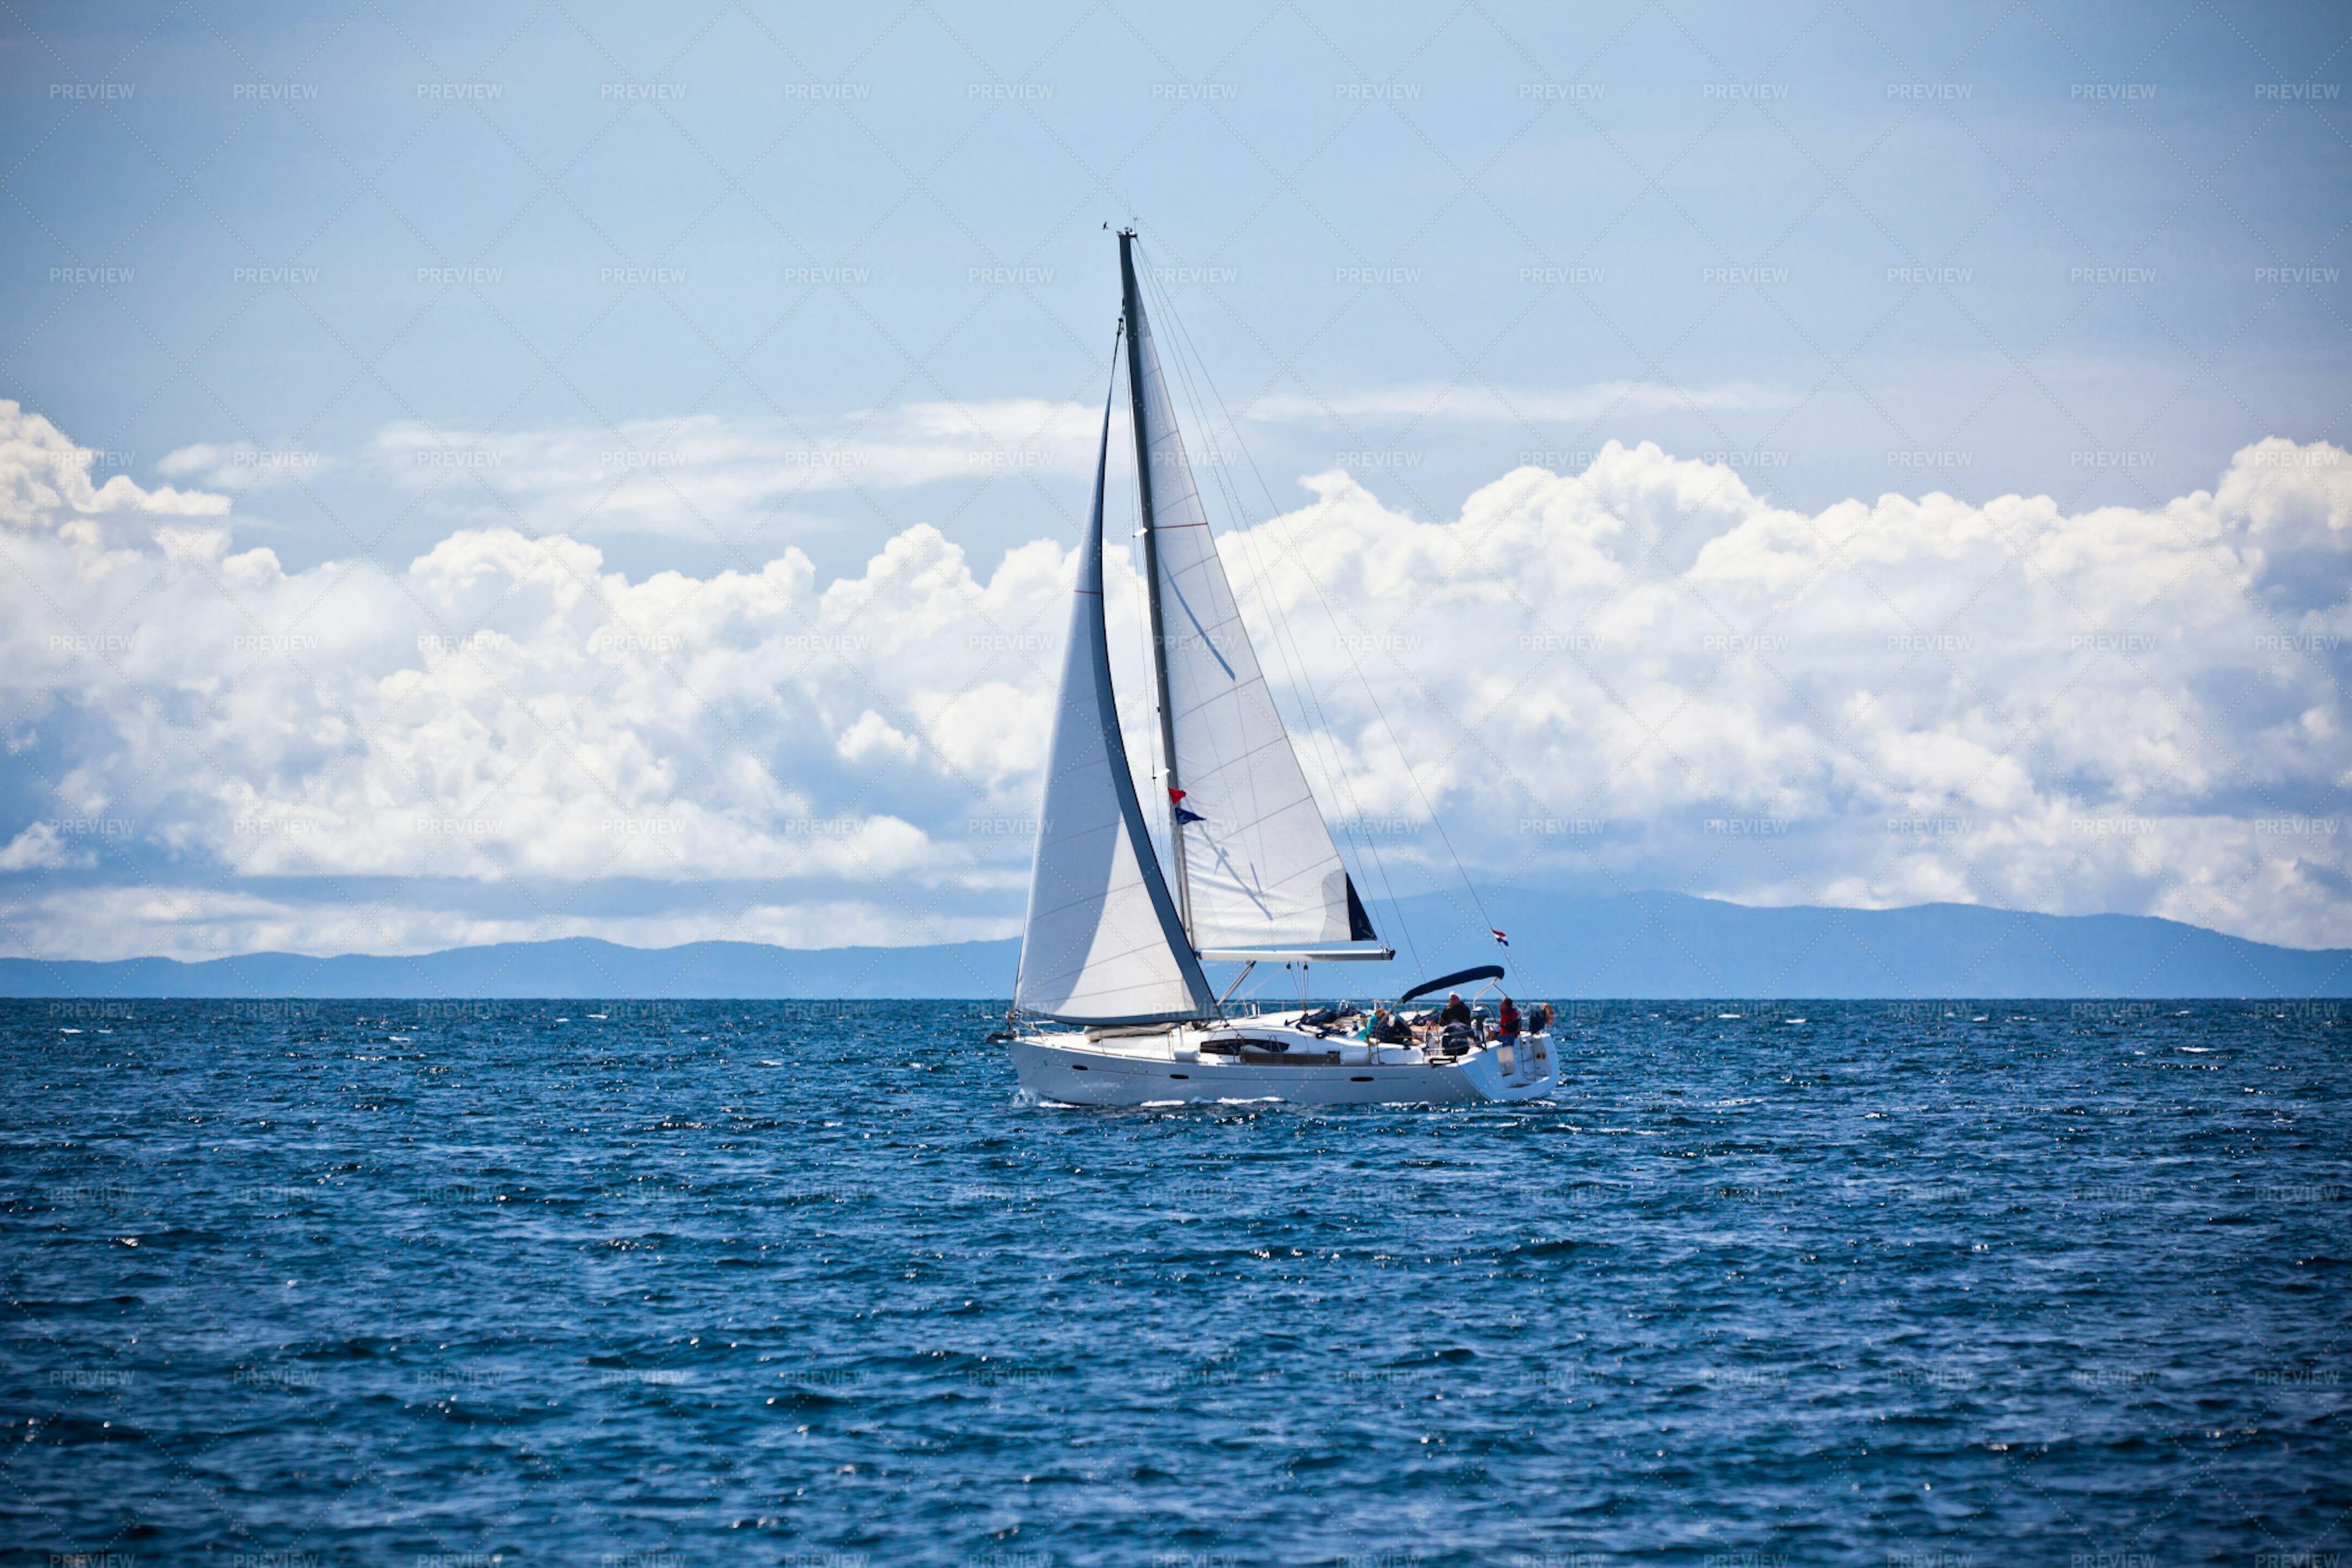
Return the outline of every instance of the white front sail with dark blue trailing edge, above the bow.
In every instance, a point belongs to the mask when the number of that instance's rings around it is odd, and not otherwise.
[[[1065,1023],[1160,1023],[1214,1011],[1183,936],[1143,806],[1127,771],[1103,628],[1103,465],[1110,404],[1094,458],[1094,517],[1077,552],[1070,646],[1047,764],[1037,865],[1014,1004]]]

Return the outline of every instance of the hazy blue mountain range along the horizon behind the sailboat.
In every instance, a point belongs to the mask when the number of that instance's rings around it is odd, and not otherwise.
[[[1397,961],[1317,969],[1315,992],[1392,997],[1501,959],[1519,997],[2352,997],[2352,950],[2272,947],[2140,914],[1757,910],[1684,893],[1505,891],[1482,903],[1392,905],[1404,917],[1385,922],[1399,926]],[[1018,954],[1016,940],[807,950],[562,938],[393,959],[0,959],[0,997],[1009,997]]]

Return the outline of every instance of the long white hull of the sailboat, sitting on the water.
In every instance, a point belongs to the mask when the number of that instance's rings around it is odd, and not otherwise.
[[[1294,1046],[1296,1056],[1341,1060],[1237,1060],[1202,1051],[1204,1039],[1242,1037]],[[1258,1053],[1258,1051],[1254,1051]],[[1011,1041],[1021,1088],[1054,1105],[1468,1105],[1534,1100],[1559,1081],[1543,1034],[1512,1046],[1489,1044],[1456,1060],[1428,1060],[1418,1048],[1322,1041],[1282,1027],[1169,1030],[1094,1041],[1084,1034],[1023,1034]]]

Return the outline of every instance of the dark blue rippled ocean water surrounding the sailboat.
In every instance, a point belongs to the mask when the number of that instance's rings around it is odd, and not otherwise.
[[[2326,1568],[2340,1004],[1562,1009],[1016,1103],[978,1004],[0,1004],[49,1568]]]

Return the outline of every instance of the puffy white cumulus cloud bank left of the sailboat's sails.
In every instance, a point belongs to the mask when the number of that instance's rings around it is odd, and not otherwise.
[[[75,473],[47,421],[7,418],[9,454]],[[153,893],[134,926],[285,879],[757,879],[903,917],[779,926],[771,910],[727,933],[938,940],[974,929],[948,891],[1011,884],[964,849],[964,823],[1035,811],[1056,543],[985,583],[927,527],[826,585],[797,550],[630,583],[588,543],[515,529],[459,531],[405,567],[287,571],[188,522],[219,520],[214,496],[122,477],[78,491],[31,463],[9,484],[24,614],[0,632],[0,679],[33,820],[0,823],[0,870],[134,882]],[[162,898],[191,882],[205,893]],[[14,917],[19,950],[54,952],[45,919],[89,907],[54,879],[24,896],[47,914]],[[715,898],[696,931],[731,910]],[[306,919],[289,912],[287,933]]]

